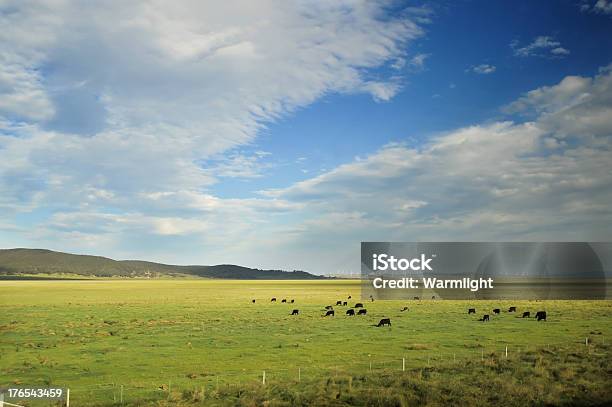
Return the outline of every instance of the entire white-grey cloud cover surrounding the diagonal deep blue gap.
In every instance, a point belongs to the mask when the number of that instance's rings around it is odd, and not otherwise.
[[[245,145],[269,121],[331,92],[393,97],[401,80],[369,71],[410,60],[405,43],[421,34],[410,14],[388,19],[369,1],[7,4],[0,227],[11,241],[328,272],[355,266],[360,240],[612,238],[609,70],[525,94],[508,107],[525,123],[387,145],[224,199],[209,190],[220,176],[268,168]],[[545,38],[521,52],[562,48]],[[44,219],[14,222],[30,211]]]

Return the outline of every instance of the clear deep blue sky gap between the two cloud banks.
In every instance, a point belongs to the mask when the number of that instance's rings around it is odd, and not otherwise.
[[[215,192],[249,196],[261,188],[306,179],[389,142],[418,144],[439,132],[507,117],[500,108],[524,92],[554,85],[568,75],[593,76],[612,61],[610,17],[580,13],[582,3],[423,4],[431,12],[431,23],[407,50],[427,57],[421,68],[407,65],[400,70],[402,89],[392,100],[332,94],[268,124],[251,149],[282,157],[276,164],[284,170],[250,182],[220,183]],[[516,57],[510,47],[512,41],[527,46],[543,36],[560,42],[570,54],[555,57],[538,51],[540,56]],[[495,66],[495,72],[470,70],[483,64]],[[371,75],[396,73],[383,66]]]

